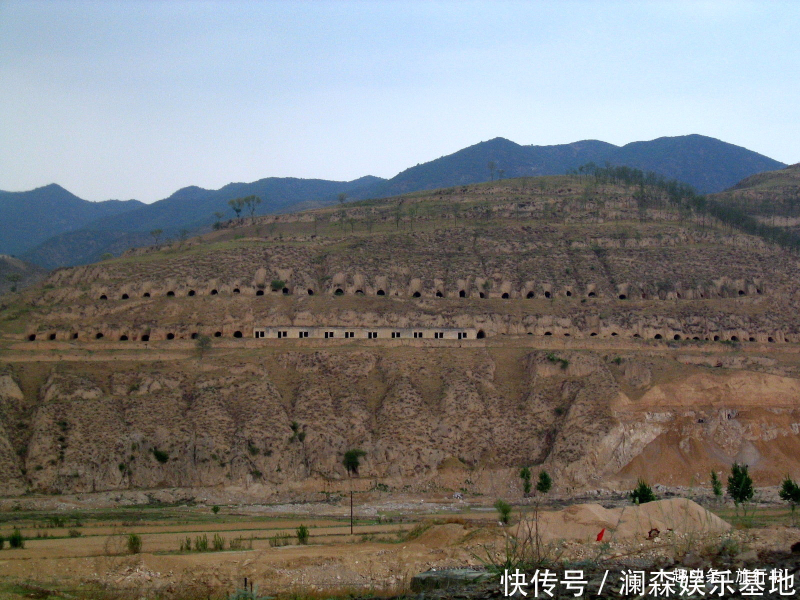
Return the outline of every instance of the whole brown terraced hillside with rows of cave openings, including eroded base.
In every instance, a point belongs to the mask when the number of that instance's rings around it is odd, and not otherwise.
[[[19,493],[277,493],[346,477],[358,447],[392,486],[515,489],[526,464],[565,488],[700,482],[734,460],[777,482],[800,470],[798,275],[661,188],[586,177],[229,222],[4,298],[0,469]],[[478,339],[253,337],[280,325]]]

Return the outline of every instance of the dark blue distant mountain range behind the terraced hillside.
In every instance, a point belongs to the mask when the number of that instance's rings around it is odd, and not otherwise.
[[[489,170],[490,162],[495,170]],[[233,216],[227,202],[240,196],[262,198],[256,214],[286,213],[330,205],[342,192],[351,200],[384,198],[490,178],[564,174],[587,162],[652,170],[689,183],[701,193],[719,192],[752,174],[786,166],[741,146],[696,134],[625,146],[598,140],[520,146],[494,138],[412,166],[391,179],[370,175],[351,182],[266,178],[230,183],[219,190],[189,186],[152,204],[87,202],[50,184],[26,192],[0,191],[0,222],[4,224],[0,253],[20,255],[47,268],[70,266],[150,243],[150,230],[161,229],[168,238],[182,229],[209,226],[215,212]]]

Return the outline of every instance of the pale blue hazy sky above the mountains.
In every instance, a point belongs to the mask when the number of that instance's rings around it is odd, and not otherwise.
[[[800,2],[0,0],[0,189],[392,177],[502,136],[800,161]]]

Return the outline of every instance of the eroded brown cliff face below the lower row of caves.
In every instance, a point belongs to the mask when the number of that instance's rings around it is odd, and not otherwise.
[[[18,363],[0,376],[0,479],[8,494],[269,494],[346,478],[342,456],[353,448],[366,451],[361,478],[392,485],[441,482],[455,469],[479,488],[522,465],[544,465],[564,488],[639,475],[685,484],[734,460],[761,484],[800,473],[794,368],[686,358],[342,347],[65,362],[35,386],[22,385]]]

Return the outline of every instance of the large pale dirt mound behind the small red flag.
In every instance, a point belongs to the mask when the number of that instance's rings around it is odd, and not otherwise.
[[[534,522],[530,522],[533,526]],[[605,529],[604,539],[646,538],[650,530],[677,534],[730,530],[730,525],[696,502],[670,498],[641,506],[606,509],[598,504],[575,504],[563,510],[539,514],[542,540],[577,539],[589,542]]]

